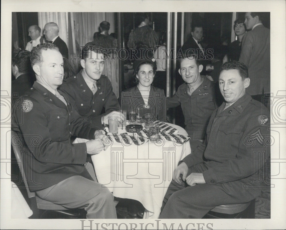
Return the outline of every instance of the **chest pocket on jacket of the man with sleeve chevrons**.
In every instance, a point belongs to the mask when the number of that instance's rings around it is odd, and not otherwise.
[[[239,124],[221,124],[217,135],[217,152],[222,155],[236,156],[243,133],[243,126]]]

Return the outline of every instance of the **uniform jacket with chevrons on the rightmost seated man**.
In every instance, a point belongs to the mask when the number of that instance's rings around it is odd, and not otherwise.
[[[204,164],[206,183],[251,183],[253,170],[264,167],[263,154],[270,156],[269,112],[248,94],[224,107],[225,102],[212,113],[204,143],[182,161],[188,167]],[[262,183],[255,179],[257,185]]]

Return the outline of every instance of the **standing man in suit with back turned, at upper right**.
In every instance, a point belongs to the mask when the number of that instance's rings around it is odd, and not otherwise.
[[[245,13],[248,31],[242,41],[239,61],[248,68],[251,84],[247,92],[261,102],[263,93],[270,92],[270,30],[262,24],[262,12]]]

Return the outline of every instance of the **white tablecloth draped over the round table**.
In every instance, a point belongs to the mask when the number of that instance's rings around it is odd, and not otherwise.
[[[169,125],[178,129],[179,134],[187,135],[182,127]],[[119,128],[119,134],[123,132],[126,130]],[[86,141],[77,138],[74,143]],[[189,141],[176,144],[162,140],[139,146],[112,142],[107,150],[92,155],[92,162],[98,182],[115,197],[138,200],[146,209],[144,218],[158,218],[173,171],[190,153]]]

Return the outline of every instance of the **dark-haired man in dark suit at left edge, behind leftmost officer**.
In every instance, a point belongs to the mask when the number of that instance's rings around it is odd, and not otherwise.
[[[29,51],[17,51],[12,58],[12,73],[16,79],[11,82],[11,95],[22,96],[33,84]]]

